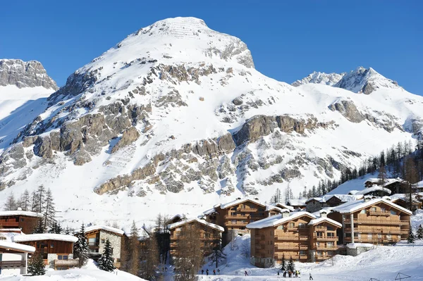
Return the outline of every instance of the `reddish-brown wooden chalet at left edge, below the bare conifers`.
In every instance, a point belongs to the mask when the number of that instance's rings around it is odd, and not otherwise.
[[[0,228],[20,229],[23,233],[31,234],[37,227],[38,220],[42,218],[41,213],[30,211],[0,211]]]

